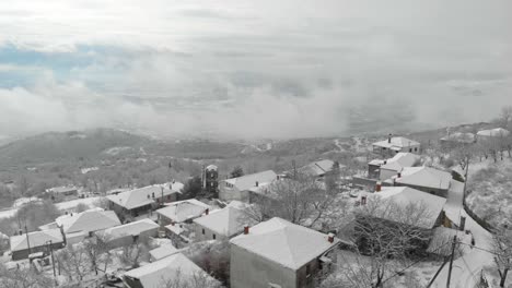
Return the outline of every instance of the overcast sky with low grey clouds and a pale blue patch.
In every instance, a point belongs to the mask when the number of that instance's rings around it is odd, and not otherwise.
[[[512,105],[512,1],[2,0],[0,135],[344,135]]]

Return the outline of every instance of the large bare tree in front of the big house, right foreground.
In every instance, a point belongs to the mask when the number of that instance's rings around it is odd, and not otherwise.
[[[351,236],[353,251],[340,253],[344,259],[338,261],[338,277],[326,283],[336,287],[387,287],[410,265],[414,254],[426,251],[431,216],[422,202],[399,205],[369,199],[344,231]]]

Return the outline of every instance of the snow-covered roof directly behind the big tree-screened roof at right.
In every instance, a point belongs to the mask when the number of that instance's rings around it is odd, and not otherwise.
[[[400,176],[393,176],[386,182],[447,190],[452,180],[451,173],[426,166],[404,167]]]

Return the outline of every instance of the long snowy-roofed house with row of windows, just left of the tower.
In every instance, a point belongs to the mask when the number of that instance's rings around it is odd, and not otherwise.
[[[179,182],[149,185],[108,195],[107,200],[109,207],[119,217],[124,218],[125,215],[137,217],[151,213],[163,203],[177,201],[183,187]]]

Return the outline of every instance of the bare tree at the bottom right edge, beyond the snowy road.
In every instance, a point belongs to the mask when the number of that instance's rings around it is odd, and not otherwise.
[[[509,271],[512,268],[512,214],[494,229],[492,250],[494,264],[500,275],[500,287],[504,287]]]

